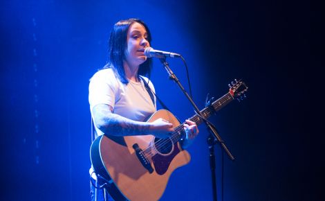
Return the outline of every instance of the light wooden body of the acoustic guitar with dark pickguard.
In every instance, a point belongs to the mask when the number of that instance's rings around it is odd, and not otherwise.
[[[180,125],[176,117],[167,110],[158,110],[148,122],[163,118]],[[156,142],[155,142],[156,141]],[[189,163],[190,155],[180,144],[167,139],[167,150],[159,150],[162,141],[152,135],[127,137],[97,137],[91,146],[91,162],[95,173],[110,180],[109,193],[115,200],[159,200],[163,195],[171,173]],[[145,152],[152,171],[140,162],[135,144]],[[150,173],[151,172],[151,173]]]

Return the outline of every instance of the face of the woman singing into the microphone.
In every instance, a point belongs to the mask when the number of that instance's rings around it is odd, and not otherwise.
[[[130,67],[138,67],[147,60],[145,49],[150,46],[147,41],[147,30],[142,24],[134,22],[127,33],[126,62]]]

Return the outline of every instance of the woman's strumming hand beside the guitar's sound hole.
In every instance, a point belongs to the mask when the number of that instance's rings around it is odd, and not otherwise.
[[[159,118],[151,122],[150,132],[158,138],[167,139],[173,131],[173,124],[165,119]]]

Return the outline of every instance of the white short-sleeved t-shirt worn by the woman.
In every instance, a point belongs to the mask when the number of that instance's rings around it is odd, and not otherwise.
[[[145,78],[148,81],[148,78]],[[149,87],[154,91],[154,85],[149,81]],[[114,114],[119,114],[134,121],[145,121],[148,116],[156,112],[142,79],[140,82],[129,80],[127,85],[115,77],[112,69],[97,71],[89,84],[89,105],[93,117],[93,107],[98,104],[111,105]],[[95,125],[98,135],[104,134]]]

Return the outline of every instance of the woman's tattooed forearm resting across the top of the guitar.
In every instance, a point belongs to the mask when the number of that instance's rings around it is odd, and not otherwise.
[[[109,105],[96,105],[93,108],[93,117],[96,125],[105,134],[115,136],[148,134],[150,123],[132,121],[111,112]]]

